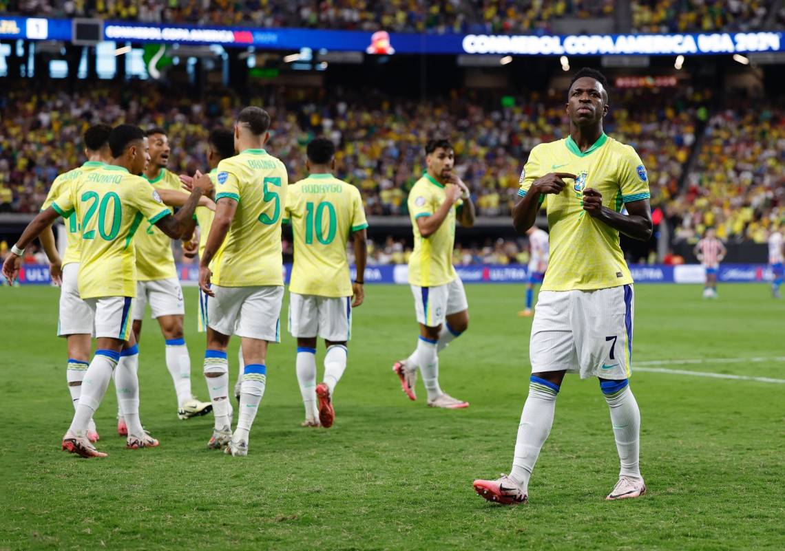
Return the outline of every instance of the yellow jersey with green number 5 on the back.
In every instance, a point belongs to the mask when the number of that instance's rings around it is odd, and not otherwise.
[[[246,149],[218,164],[215,200],[237,201],[232,226],[212,262],[223,287],[283,285],[281,220],[287,200],[286,166],[263,149]]]

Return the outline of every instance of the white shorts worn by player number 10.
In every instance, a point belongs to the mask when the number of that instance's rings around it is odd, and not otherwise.
[[[352,297],[289,293],[289,332],[302,339],[319,337],[331,343],[352,338]]]

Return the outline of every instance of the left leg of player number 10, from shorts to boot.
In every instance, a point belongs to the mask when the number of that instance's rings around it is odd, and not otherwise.
[[[319,332],[319,312],[316,297],[289,293],[289,332],[297,339],[295,368],[300,386],[305,421],[302,426],[319,426],[316,408],[316,335]]]

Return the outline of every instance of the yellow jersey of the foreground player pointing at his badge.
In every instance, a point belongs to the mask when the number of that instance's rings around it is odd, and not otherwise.
[[[632,147],[605,134],[586,152],[579,150],[571,136],[541,143],[529,154],[518,195],[524,197],[531,183],[549,172],[571,172],[577,178],[567,180],[560,194],[547,195],[550,259],[542,290],[591,290],[631,284],[619,230],[586,214],[582,192],[593,187],[602,194],[602,204],[616,212],[624,203],[648,199],[648,176],[641,158]]]

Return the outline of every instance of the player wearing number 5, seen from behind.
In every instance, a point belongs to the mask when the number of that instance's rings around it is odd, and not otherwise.
[[[281,219],[289,179],[283,162],[262,149],[269,127],[267,111],[240,111],[234,132],[238,154],[218,164],[215,218],[199,259],[199,287],[207,295],[204,375],[215,416],[207,445],[226,446],[235,456],[248,454],[250,427],[265,393],[267,346],[280,338]],[[203,175],[195,183],[205,180],[209,183]],[[230,335],[242,339],[245,361],[234,433],[228,415]]]

